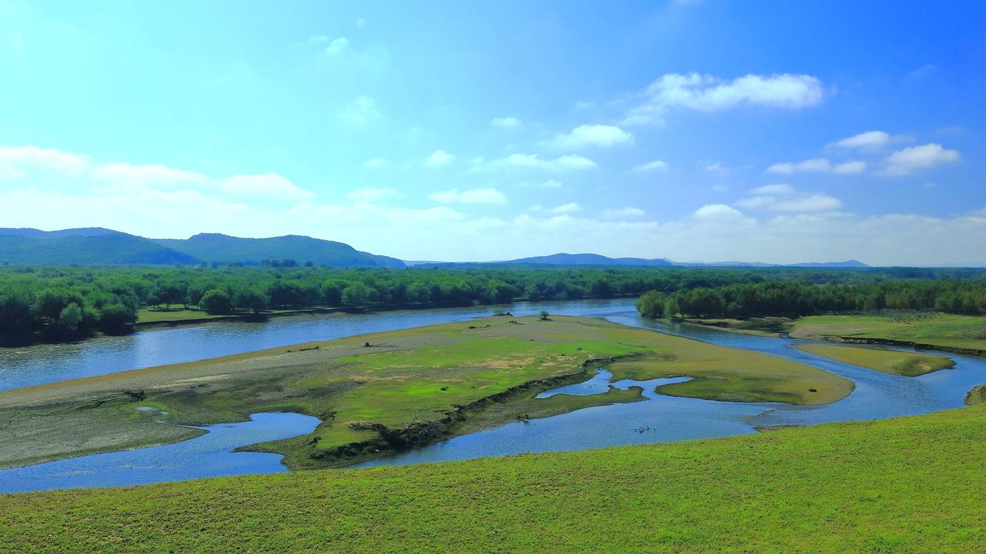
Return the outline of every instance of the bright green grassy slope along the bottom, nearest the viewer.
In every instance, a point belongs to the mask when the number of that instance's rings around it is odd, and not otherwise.
[[[986,405],[469,462],[0,496],[4,552],[981,552]]]

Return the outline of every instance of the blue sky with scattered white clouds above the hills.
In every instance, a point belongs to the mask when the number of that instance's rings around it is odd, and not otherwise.
[[[984,265],[984,6],[0,0],[0,226]]]

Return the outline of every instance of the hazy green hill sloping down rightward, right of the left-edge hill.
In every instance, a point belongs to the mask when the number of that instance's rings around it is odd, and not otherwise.
[[[387,256],[360,252],[348,244],[309,236],[285,235],[270,238],[240,238],[220,233],[199,233],[190,238],[156,239],[155,242],[206,262],[253,262],[290,258],[316,265],[403,268],[404,263]]]

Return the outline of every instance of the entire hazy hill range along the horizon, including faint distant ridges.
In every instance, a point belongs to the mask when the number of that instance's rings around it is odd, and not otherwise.
[[[402,262],[396,258],[356,250],[348,244],[310,236],[240,238],[219,233],[199,233],[186,239],[145,238],[103,227],[42,231],[33,228],[0,228],[0,263],[82,266],[176,265],[201,263],[259,264],[263,260],[311,261],[317,266],[397,268],[408,266],[458,267],[466,265],[529,266],[683,266],[683,267],[795,267],[869,268],[857,260],[764,264],[761,262],[672,262],[666,258],[609,258],[599,254],[559,253],[498,262]]]

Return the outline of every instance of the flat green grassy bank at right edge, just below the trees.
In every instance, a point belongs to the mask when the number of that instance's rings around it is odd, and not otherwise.
[[[795,339],[890,339],[986,350],[986,318],[951,314],[810,316],[794,322]]]

